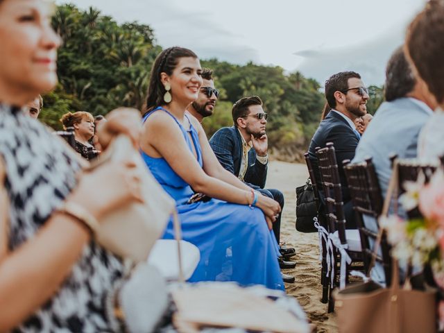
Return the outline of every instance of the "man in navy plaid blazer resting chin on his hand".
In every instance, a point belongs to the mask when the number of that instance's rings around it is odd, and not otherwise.
[[[268,139],[266,136],[266,119],[268,114],[262,108],[258,96],[243,97],[234,103],[232,119],[234,126],[218,130],[210,139],[210,145],[222,166],[240,180],[259,191],[264,196],[278,201],[284,207],[284,195],[278,189],[264,189],[268,164]],[[273,223],[276,240],[280,241],[280,219],[277,216]],[[293,256],[294,248],[280,246],[282,257],[281,268],[293,268],[296,262],[286,261]],[[294,277],[283,274],[284,282],[294,282]]]

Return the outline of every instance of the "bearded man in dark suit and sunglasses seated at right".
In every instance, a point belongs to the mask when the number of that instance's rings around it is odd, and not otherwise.
[[[359,139],[361,139],[361,135],[356,130],[354,121],[367,113],[368,91],[364,83],[362,83],[359,74],[354,71],[342,71],[330,76],[325,81],[325,98],[331,110],[327,117],[321,121],[311,139],[308,151],[309,157],[318,181],[320,197],[323,200],[316,147],[324,148],[327,142],[334,144],[339,178],[341,179],[346,228],[353,229],[356,228],[356,223],[355,219],[353,219],[350,191],[348,191],[345,180],[342,161],[352,160],[355,157],[356,147]]]

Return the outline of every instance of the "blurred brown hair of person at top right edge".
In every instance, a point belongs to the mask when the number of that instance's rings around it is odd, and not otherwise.
[[[438,103],[444,102],[444,3],[430,0],[407,29],[406,44],[419,76]]]

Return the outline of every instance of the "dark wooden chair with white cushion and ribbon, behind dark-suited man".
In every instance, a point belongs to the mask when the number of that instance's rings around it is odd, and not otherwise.
[[[329,241],[332,248],[334,263],[330,274],[330,297],[328,311],[334,311],[332,291],[336,287],[344,287],[353,262],[363,262],[359,230],[345,230],[341,180],[334,146],[331,142],[325,148],[316,151],[318,166],[321,173],[323,194],[327,207]],[[327,255],[327,262],[328,262]]]

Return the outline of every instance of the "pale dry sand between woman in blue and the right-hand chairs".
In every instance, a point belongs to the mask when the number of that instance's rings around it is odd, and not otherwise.
[[[285,206],[281,221],[281,241],[296,248],[296,268],[284,270],[296,278],[286,284],[287,293],[298,299],[307,316],[318,327],[317,332],[338,332],[334,314],[327,313],[321,303],[321,266],[319,263],[318,234],[296,231],[296,187],[305,184],[308,171],[305,164],[272,161],[268,164],[266,187],[284,193]]]

